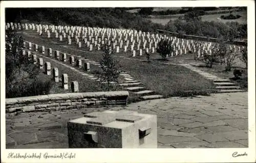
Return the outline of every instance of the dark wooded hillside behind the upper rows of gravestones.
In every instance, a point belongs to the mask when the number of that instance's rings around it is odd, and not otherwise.
[[[124,11],[123,8],[9,8],[6,21],[27,20],[57,25],[131,28],[156,32],[162,25],[154,24],[139,15]]]

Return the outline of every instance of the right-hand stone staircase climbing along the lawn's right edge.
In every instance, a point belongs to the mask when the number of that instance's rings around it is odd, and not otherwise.
[[[204,78],[209,79],[214,82],[214,85],[216,86],[216,89],[220,93],[227,93],[227,92],[243,92],[244,90],[241,89],[240,86],[236,86],[236,84],[231,83],[229,79],[222,79],[215,75],[211,75],[209,73],[203,72],[200,69],[194,67],[190,64],[180,64],[191,71],[197,72],[198,74],[202,75]]]

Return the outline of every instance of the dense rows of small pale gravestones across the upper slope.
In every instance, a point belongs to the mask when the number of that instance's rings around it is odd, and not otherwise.
[[[6,25],[6,27],[14,27],[15,24],[9,24],[8,26],[8,23]],[[116,49],[116,53],[119,53],[120,52],[120,49],[122,48],[122,42],[123,40],[121,39],[122,38],[122,33],[125,34],[125,39],[124,41],[126,41],[126,45],[124,46],[124,50],[123,52],[127,52],[127,48],[129,48],[129,39],[127,38],[127,36],[129,35],[130,36],[130,39],[131,39],[131,42],[133,42],[133,44],[131,44],[131,52],[133,54],[133,57],[136,56],[136,50],[133,50],[134,49],[134,46],[135,46],[135,42],[136,42],[136,39],[133,39],[133,34],[135,34],[136,38],[137,38],[137,50],[139,51],[140,53],[140,56],[142,55],[142,50],[139,49],[140,48],[140,39],[139,37],[142,38],[142,41],[144,42],[143,43],[143,50],[146,50],[147,53],[150,52],[151,50],[151,53],[154,53],[155,52],[155,49],[157,48],[157,43],[161,40],[161,39],[168,39],[170,42],[172,42],[172,45],[173,45],[173,49],[174,49],[174,52],[175,54],[173,53],[170,53],[170,56],[178,56],[178,55],[182,55],[182,54],[187,54],[187,52],[192,52],[192,53],[198,53],[198,58],[202,57],[203,55],[206,55],[206,54],[211,54],[211,42],[202,42],[202,41],[197,41],[197,42],[193,42],[193,40],[186,40],[186,43],[184,43],[184,39],[179,39],[179,38],[176,38],[176,37],[167,37],[166,35],[162,36],[162,35],[154,35],[154,34],[150,34],[149,32],[147,32],[147,34],[145,32],[141,32],[141,31],[137,31],[137,30],[130,30],[130,29],[110,29],[110,28],[91,28],[91,27],[78,27],[78,26],[48,26],[48,25],[34,25],[34,24],[22,24],[21,26],[24,26],[26,30],[28,29],[32,29],[32,30],[36,30],[37,29],[37,32],[39,32],[40,34],[40,31],[42,32],[42,29],[45,29],[45,32],[48,33],[48,37],[50,38],[50,29],[52,31],[52,33],[55,33],[55,37],[58,36],[58,32],[61,33],[61,35],[59,35],[59,40],[63,40],[63,38],[66,37],[66,33],[69,33],[68,35],[68,44],[72,44],[72,38],[74,37],[74,34],[75,34],[75,42],[77,43],[78,45],[78,48],[81,48],[82,46],[82,42],[79,41],[79,38],[80,38],[80,33],[81,33],[81,30],[82,30],[82,40],[84,41],[84,43],[87,44],[87,47],[89,48],[89,51],[92,51],[93,50],[93,44],[96,46],[98,45],[97,47],[97,50],[100,50],[100,43],[105,43],[103,41],[108,41],[108,45],[111,45],[113,46],[113,49]],[[20,24],[16,25],[16,27],[20,27]],[[28,28],[26,28],[28,27]],[[57,32],[57,30],[58,32]],[[65,31],[64,31],[65,29]],[[93,32],[94,31],[94,32]],[[99,32],[98,32],[99,31]],[[103,32],[102,32],[103,31]],[[104,35],[105,35],[105,32],[107,32],[107,35],[108,35],[108,38],[105,38],[104,39]],[[98,33],[97,33],[98,32]],[[111,33],[112,32],[112,33]],[[99,35],[95,35],[95,38],[93,38],[93,33],[97,33],[97,34],[101,34],[101,39],[100,40],[100,37]],[[114,33],[114,34],[113,34]],[[116,35],[115,34],[118,34],[119,38],[118,38],[118,42],[116,40]],[[89,37],[87,37],[87,34]],[[112,40],[110,40],[110,36],[112,34]],[[147,39],[145,39],[144,37],[147,37]],[[98,38],[99,37],[99,38]],[[88,41],[88,39],[89,41]],[[152,38],[152,39],[151,39]],[[98,41],[97,41],[98,40]],[[99,41],[100,40],[100,41]],[[148,47],[146,47],[146,43],[147,43],[147,40],[148,42]],[[180,41],[181,40],[181,41]],[[91,41],[91,42],[90,42]],[[95,43],[96,42],[96,43]],[[152,46],[152,43],[155,43],[155,47]],[[117,45],[117,46],[116,46]],[[176,47],[177,47],[177,50],[176,50]],[[244,48],[244,46],[242,46]],[[236,49],[237,47],[235,45],[231,46],[230,45],[230,49]],[[240,46],[238,46],[238,50],[240,51],[241,48]]]

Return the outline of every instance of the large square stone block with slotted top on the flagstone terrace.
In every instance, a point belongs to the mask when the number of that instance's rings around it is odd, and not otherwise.
[[[136,111],[92,112],[68,122],[69,148],[157,148],[157,116]]]

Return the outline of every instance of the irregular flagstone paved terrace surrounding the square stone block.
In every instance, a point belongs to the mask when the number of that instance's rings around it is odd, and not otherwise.
[[[6,148],[68,148],[67,121],[106,109],[157,114],[158,148],[248,147],[247,92],[236,92],[7,116]]]

